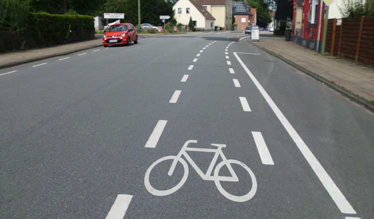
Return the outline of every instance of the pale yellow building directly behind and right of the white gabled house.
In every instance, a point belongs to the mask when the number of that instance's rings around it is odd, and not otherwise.
[[[203,7],[216,19],[215,25],[222,30],[231,30],[232,0],[198,0]],[[177,2],[178,3],[178,2]]]

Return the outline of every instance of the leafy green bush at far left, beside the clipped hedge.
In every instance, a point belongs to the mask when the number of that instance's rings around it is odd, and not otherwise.
[[[29,14],[28,1],[0,0],[0,31],[27,31]]]

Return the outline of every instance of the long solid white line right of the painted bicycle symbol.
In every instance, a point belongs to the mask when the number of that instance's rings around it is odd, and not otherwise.
[[[248,76],[252,79],[257,89],[259,89],[262,96],[268,102],[269,106],[273,109],[274,113],[277,115],[278,119],[281,121],[283,127],[286,129],[288,134],[291,136],[292,140],[295,142],[298,149],[301,151],[302,155],[305,157],[306,161],[309,163],[310,167],[313,169],[314,173],[317,175],[322,185],[325,187],[327,192],[330,194],[331,198],[334,200],[335,204],[338,206],[339,210],[344,214],[357,214],[352,208],[351,204],[344,197],[339,188],[335,185],[334,181],[327,174],[326,170],[319,163],[317,158],[310,151],[305,142],[298,135],[296,130],[288,122],[287,118],[283,115],[281,110],[277,107],[274,101],[270,98],[265,89],[257,81],[255,76],[247,68],[244,62],[239,58],[239,56],[234,52],[235,57],[238,59],[239,63],[242,65],[243,69],[247,72]]]

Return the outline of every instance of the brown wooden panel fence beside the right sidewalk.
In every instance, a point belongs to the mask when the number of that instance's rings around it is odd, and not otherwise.
[[[329,19],[326,52],[374,67],[374,17]]]

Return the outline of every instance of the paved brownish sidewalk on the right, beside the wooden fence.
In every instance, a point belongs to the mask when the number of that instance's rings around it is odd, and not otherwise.
[[[374,112],[374,68],[332,56],[322,56],[284,37],[261,35],[251,44],[323,82]]]

